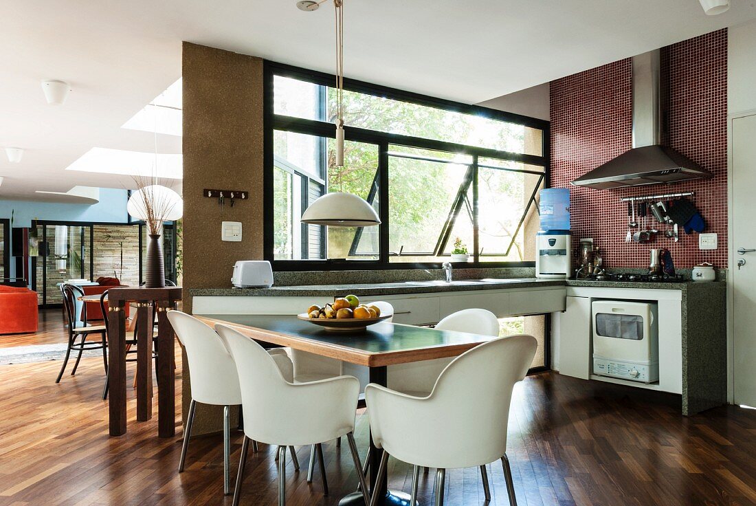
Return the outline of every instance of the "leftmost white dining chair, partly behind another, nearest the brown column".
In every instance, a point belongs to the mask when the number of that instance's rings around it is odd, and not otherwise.
[[[231,420],[230,410],[232,405],[240,405],[242,402],[237,376],[236,365],[226,349],[223,340],[209,327],[209,325],[187,315],[181,311],[169,311],[168,319],[171,322],[176,337],[184,346],[189,362],[189,374],[191,377],[191,403],[187,416],[187,425],[184,429],[184,442],[181,445],[181,458],[178,461],[178,472],[184,472],[191,427],[194,424],[194,412],[197,402],[209,405],[223,406],[223,493],[231,493]],[[274,363],[280,369],[284,377],[293,377],[291,361],[283,349],[271,349],[268,353]],[[256,449],[256,444],[253,445]],[[294,449],[290,449],[292,457],[296,458]],[[295,461],[299,470],[299,463]]]

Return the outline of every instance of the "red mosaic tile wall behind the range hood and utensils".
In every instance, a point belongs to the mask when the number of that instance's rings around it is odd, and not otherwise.
[[[551,185],[570,188],[575,248],[593,237],[610,268],[646,267],[651,248],[668,248],[675,265],[727,267],[727,30],[662,48],[662,89],[668,95],[665,144],[714,173],[714,179],[618,190],[593,190],[570,181],[632,146],[632,68],[625,59],[550,85]],[[718,234],[717,250],[701,251],[696,233],[680,241],[657,237],[624,242],[627,203],[621,197],[695,191],[693,201]],[[649,226],[655,220],[649,217]],[[652,225],[653,224],[653,225]],[[664,229],[665,225],[659,225]]]

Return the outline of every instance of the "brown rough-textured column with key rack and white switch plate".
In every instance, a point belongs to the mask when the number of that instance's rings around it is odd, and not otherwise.
[[[191,288],[231,287],[237,260],[262,259],[262,59],[184,42],[184,311]],[[204,188],[249,191],[234,207]],[[221,241],[221,222],[241,222],[241,242]],[[184,357],[182,412],[191,400]],[[185,416],[185,415],[184,415]],[[197,406],[193,433],[222,430],[220,408]],[[185,420],[184,420],[185,422]]]

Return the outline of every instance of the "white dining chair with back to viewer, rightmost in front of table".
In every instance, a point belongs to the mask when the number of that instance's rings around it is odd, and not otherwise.
[[[425,397],[370,383],[365,389],[370,433],[383,449],[378,481],[389,455],[413,464],[412,498],[417,500],[419,466],[435,467],[435,504],[444,502],[447,469],[485,466],[501,460],[510,505],[516,506],[507,459],[507,423],[512,391],[522,380],[538,343],[532,336],[500,337],[454,359]],[[377,503],[373,496],[370,506]]]

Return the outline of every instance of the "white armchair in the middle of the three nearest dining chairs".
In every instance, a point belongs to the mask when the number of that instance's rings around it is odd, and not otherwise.
[[[278,445],[278,504],[286,504],[286,447],[318,445],[321,473],[321,443],[346,436],[360,478],[363,498],[367,489],[361,473],[354,430],[360,382],[353,376],[339,376],[309,383],[296,383],[280,374],[274,359],[258,343],[227,325],[215,330],[231,352],[240,380],[244,440],[239,474],[234,489],[234,506],[239,504],[249,441]],[[324,494],[327,491],[324,490]]]

